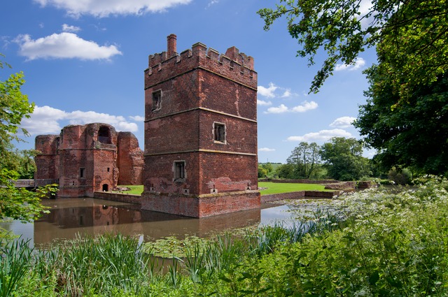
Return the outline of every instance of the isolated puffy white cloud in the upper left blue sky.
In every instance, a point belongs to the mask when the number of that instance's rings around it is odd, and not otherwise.
[[[93,41],[85,41],[76,34],[62,32],[52,34],[36,40],[29,35],[20,35],[15,38],[20,45],[19,54],[34,59],[110,59],[115,55],[122,55],[115,45],[99,46]]]

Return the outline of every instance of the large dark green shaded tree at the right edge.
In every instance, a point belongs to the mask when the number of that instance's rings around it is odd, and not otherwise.
[[[374,66],[367,71],[370,89],[353,123],[384,170],[412,166],[421,173],[448,173],[448,75],[427,86],[409,89],[407,103],[399,101],[388,75]],[[380,87],[377,87],[381,85]]]

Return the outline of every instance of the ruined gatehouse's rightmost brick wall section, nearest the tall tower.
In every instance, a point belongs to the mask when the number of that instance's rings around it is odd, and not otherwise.
[[[118,184],[143,184],[143,152],[130,132],[118,132]]]

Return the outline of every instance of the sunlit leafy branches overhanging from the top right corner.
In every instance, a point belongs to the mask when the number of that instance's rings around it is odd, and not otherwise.
[[[353,64],[365,48],[394,53],[382,66],[393,77],[393,88],[402,97],[414,85],[427,85],[447,71],[448,11],[446,0],[279,0],[276,8],[258,14],[265,30],[286,17],[289,34],[296,38],[297,55],[314,64],[317,52],[327,58],[311,83],[317,92],[337,63]],[[366,9],[367,8],[367,9]]]

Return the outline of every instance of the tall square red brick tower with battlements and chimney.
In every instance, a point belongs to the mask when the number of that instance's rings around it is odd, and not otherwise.
[[[260,207],[253,58],[202,43],[149,56],[142,208],[208,217]]]

